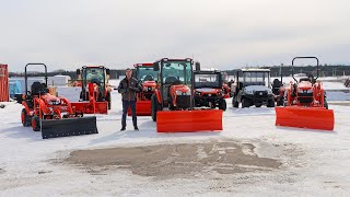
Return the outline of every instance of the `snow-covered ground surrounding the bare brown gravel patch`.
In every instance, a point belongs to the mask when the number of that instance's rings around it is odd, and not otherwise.
[[[233,108],[228,100],[221,132],[158,134],[155,123],[148,116],[138,117],[140,131],[119,131],[120,95],[116,91],[112,95],[109,114],[97,115],[98,135],[48,140],[22,126],[20,104],[5,103],[7,106],[0,108],[0,196],[350,195],[350,106],[330,104],[335,112],[335,130],[322,131],[276,127],[273,108]],[[343,97],[338,101],[341,100]],[[127,129],[131,129],[130,118],[127,123]],[[255,144],[256,154],[275,155],[273,159],[282,162],[282,167],[215,178],[203,174],[194,178],[154,179],[124,170],[93,175],[83,169],[56,162],[81,149],[228,139]],[[295,155],[291,160],[283,149],[279,157],[272,154],[273,149],[259,151],[258,142],[293,147]]]

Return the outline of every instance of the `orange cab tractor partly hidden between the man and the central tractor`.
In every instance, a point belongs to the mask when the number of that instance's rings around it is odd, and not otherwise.
[[[133,65],[133,76],[139,81],[141,91],[137,94],[136,115],[151,115],[151,97],[154,93],[158,82],[158,71],[153,70],[153,63]],[[131,115],[130,108],[128,115]]]

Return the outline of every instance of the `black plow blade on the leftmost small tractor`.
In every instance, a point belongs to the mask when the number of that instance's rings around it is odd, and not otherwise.
[[[90,134],[98,134],[95,116],[42,120],[43,139]]]

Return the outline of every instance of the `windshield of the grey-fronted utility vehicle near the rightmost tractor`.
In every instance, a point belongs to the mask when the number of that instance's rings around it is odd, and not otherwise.
[[[269,72],[243,72],[244,86],[248,85],[265,85],[270,86],[270,73]]]

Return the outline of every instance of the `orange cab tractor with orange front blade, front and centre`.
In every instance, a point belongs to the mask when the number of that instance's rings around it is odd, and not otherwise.
[[[151,116],[158,132],[222,130],[221,109],[192,106],[194,60],[163,58],[153,63],[159,72],[158,88],[151,97]],[[199,62],[196,70],[200,70]]]

